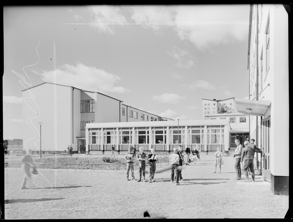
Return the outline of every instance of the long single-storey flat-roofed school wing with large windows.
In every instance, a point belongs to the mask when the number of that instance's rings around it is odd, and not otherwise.
[[[229,122],[217,120],[179,120],[160,122],[115,122],[89,123],[86,125],[86,151],[90,153],[110,151],[114,144],[116,151],[128,151],[130,144],[149,151],[169,153],[173,147],[198,144],[206,154],[214,153],[217,147],[223,152],[229,150]],[[178,142],[178,144],[177,144]]]

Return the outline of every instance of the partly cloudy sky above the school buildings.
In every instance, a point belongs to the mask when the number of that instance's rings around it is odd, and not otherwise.
[[[161,117],[202,119],[202,98],[247,98],[249,8],[4,6],[3,138],[22,138],[21,90],[54,82],[54,44],[56,83]]]

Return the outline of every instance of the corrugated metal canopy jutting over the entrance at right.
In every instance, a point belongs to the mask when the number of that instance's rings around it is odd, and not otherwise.
[[[251,116],[263,116],[270,107],[270,100],[235,99],[235,103],[237,112]]]

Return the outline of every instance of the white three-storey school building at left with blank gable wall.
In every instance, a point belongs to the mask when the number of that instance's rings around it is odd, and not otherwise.
[[[23,92],[23,148],[84,152],[88,123],[173,120],[151,114],[102,93],[42,83]]]

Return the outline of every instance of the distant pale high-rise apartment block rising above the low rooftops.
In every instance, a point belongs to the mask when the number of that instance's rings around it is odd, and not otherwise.
[[[226,111],[234,110],[234,97],[224,100],[202,99],[202,119],[207,119],[207,115],[219,113],[222,108]]]

